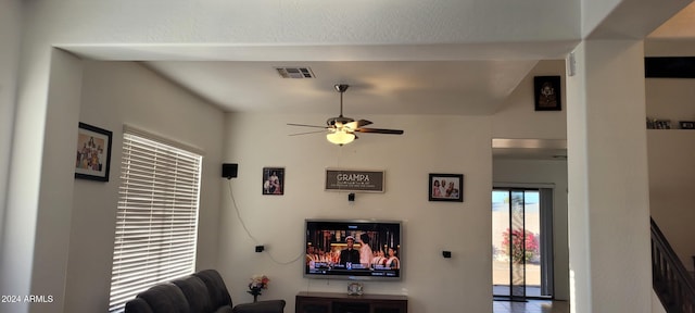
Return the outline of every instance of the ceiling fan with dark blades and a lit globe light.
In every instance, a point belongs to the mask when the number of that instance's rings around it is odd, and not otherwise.
[[[355,121],[353,118],[343,116],[343,93],[345,93],[345,90],[348,90],[350,85],[339,84],[339,85],[336,85],[334,87],[336,87],[336,91],[340,92],[340,115],[338,117],[328,118],[326,121],[327,126],[292,124],[292,123],[288,123],[287,125],[324,128],[328,130],[328,134],[326,134],[326,139],[328,139],[328,141],[332,143],[340,145],[340,146],[350,143],[353,140],[357,139],[357,136],[355,135],[355,133],[403,135],[403,130],[401,129],[366,128],[363,126],[370,125],[371,122],[367,120]],[[306,135],[306,134],[323,133],[323,132],[324,130],[291,134],[290,136]]]

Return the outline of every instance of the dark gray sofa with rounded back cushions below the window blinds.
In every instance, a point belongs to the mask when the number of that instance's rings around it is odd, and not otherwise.
[[[204,270],[181,279],[157,284],[126,302],[126,313],[283,313],[285,300],[233,306],[222,276]]]

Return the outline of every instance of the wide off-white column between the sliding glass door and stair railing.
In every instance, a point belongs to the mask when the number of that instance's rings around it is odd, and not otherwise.
[[[567,83],[570,309],[648,312],[643,45],[584,41],[577,64]]]

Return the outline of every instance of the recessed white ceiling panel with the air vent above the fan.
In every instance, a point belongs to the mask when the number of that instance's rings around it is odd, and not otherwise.
[[[349,114],[493,114],[535,61],[148,62],[231,112],[337,116],[336,84],[349,84]],[[282,78],[306,66],[316,78]],[[332,114],[332,115],[331,115]]]

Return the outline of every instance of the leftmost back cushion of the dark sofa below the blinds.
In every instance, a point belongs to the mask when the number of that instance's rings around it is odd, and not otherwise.
[[[172,283],[152,286],[137,298],[148,302],[152,313],[191,313],[186,296]]]

